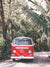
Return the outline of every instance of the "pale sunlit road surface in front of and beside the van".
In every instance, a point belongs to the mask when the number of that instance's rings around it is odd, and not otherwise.
[[[50,67],[50,52],[35,52],[33,62],[29,60],[16,60],[12,59],[1,61],[0,67]]]

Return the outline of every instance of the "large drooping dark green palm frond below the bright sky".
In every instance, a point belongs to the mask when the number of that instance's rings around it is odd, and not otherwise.
[[[27,18],[32,19],[32,25],[34,29],[38,32],[40,30],[47,31],[47,21],[43,15],[38,15],[37,13],[31,11],[30,9],[24,7],[25,13],[27,13]],[[46,32],[47,34],[47,32]]]

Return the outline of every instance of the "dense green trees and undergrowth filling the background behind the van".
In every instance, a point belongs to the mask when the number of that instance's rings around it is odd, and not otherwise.
[[[36,1],[34,12],[25,1],[0,0],[0,58],[9,58],[11,42],[18,36],[31,37],[35,51],[50,51],[50,2],[47,11]],[[3,50],[2,50],[3,49]]]

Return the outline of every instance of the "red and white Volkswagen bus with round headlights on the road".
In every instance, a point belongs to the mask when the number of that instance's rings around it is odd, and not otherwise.
[[[33,59],[34,44],[29,37],[16,37],[11,43],[11,58],[15,59]]]

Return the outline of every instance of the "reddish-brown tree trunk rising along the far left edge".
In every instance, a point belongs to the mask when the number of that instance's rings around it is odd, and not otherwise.
[[[5,22],[4,22],[4,10],[3,10],[2,0],[0,0],[0,21],[2,23],[3,38],[6,39]]]

